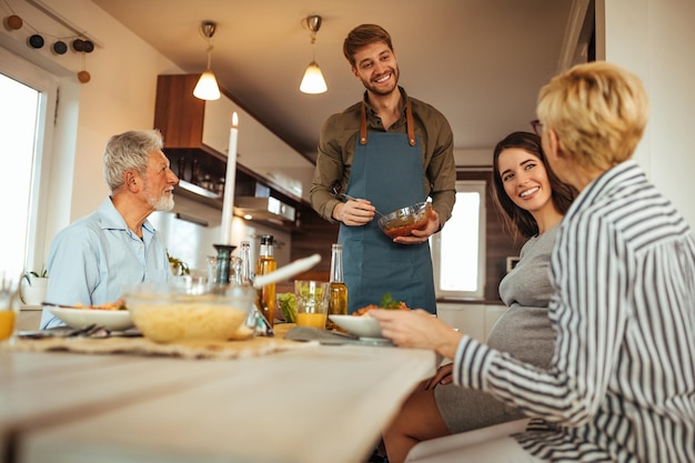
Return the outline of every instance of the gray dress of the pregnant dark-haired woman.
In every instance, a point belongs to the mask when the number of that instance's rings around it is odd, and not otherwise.
[[[500,283],[500,296],[508,309],[487,338],[490,346],[537,366],[547,366],[553,355],[547,271],[557,229],[531,238],[522,248],[518,263]],[[434,399],[452,434],[524,417],[484,392],[454,384],[437,385]]]

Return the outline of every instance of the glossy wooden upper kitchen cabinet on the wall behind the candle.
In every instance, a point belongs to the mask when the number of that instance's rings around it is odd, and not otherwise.
[[[190,163],[198,159],[201,172],[213,181],[224,177],[232,114],[239,117],[238,172],[254,178],[294,203],[309,203],[314,164],[256,121],[222,92],[219,100],[193,97],[198,74],[158,77],[154,128],[164,135],[173,158],[187,162],[183,180],[190,180]],[[172,165],[178,159],[171,159]]]

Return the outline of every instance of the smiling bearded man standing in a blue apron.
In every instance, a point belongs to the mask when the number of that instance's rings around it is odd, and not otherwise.
[[[321,130],[311,189],[313,209],[340,222],[349,312],[377,304],[385,293],[411,308],[436,312],[427,239],[451,218],[456,168],[444,115],[399,87],[391,36],[362,24],[343,43],[352,73],[366,91],[361,102],[331,115]],[[341,201],[345,193],[357,201]],[[374,211],[387,213],[432,199],[423,230],[390,239]]]

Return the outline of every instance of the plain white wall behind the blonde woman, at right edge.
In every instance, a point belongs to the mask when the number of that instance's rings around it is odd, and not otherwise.
[[[651,118],[635,159],[695,228],[695,1],[598,0],[597,58],[635,72]]]

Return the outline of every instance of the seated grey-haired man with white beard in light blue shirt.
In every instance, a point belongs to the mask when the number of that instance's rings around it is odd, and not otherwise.
[[[60,231],[49,251],[46,299],[51,303],[101,305],[118,301],[123,286],[168,281],[172,273],[161,236],[147,220],[171,211],[179,178],[162,152],[157,130],[111,137],[103,157],[111,189],[97,211]],[[63,324],[47,309],[41,329]]]

